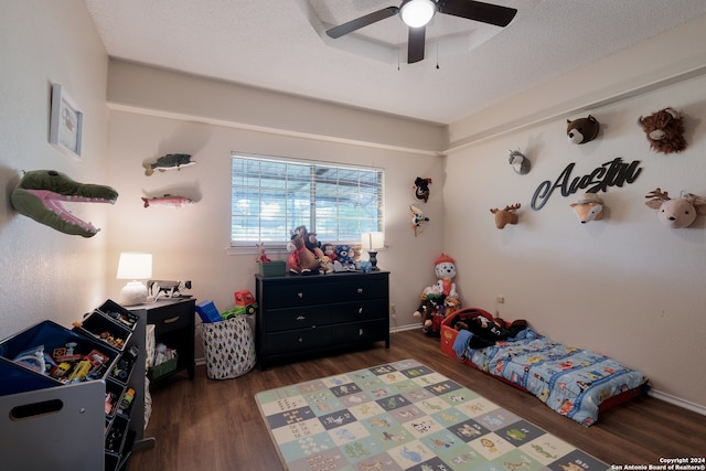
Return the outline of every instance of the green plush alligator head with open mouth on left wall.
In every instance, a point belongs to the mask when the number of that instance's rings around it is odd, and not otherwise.
[[[82,237],[93,237],[100,229],[74,216],[62,202],[114,204],[117,199],[118,192],[110,186],[78,183],[55,170],[24,173],[11,195],[18,213],[64,234]]]

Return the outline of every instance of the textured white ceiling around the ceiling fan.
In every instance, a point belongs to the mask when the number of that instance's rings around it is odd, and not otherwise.
[[[706,14],[704,0],[496,0],[501,29],[437,14],[406,63],[392,17],[325,30],[399,0],[84,0],[108,54],[425,121],[450,124]]]

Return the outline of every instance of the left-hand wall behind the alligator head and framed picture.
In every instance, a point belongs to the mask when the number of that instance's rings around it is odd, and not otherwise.
[[[81,0],[0,1],[0,339],[52,319],[63,325],[105,300],[109,207],[75,206],[103,228],[90,239],[58,233],[10,204],[18,170],[53,169],[107,182],[107,54]],[[83,156],[49,143],[51,84],[84,113]]]

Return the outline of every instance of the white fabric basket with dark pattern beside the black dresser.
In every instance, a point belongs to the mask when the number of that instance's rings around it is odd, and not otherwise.
[[[244,375],[255,366],[255,341],[244,315],[226,321],[202,323],[206,374],[211,379]]]

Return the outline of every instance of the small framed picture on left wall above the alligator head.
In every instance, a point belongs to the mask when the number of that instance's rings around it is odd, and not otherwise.
[[[60,84],[52,84],[49,141],[72,157],[81,157],[84,114]]]

